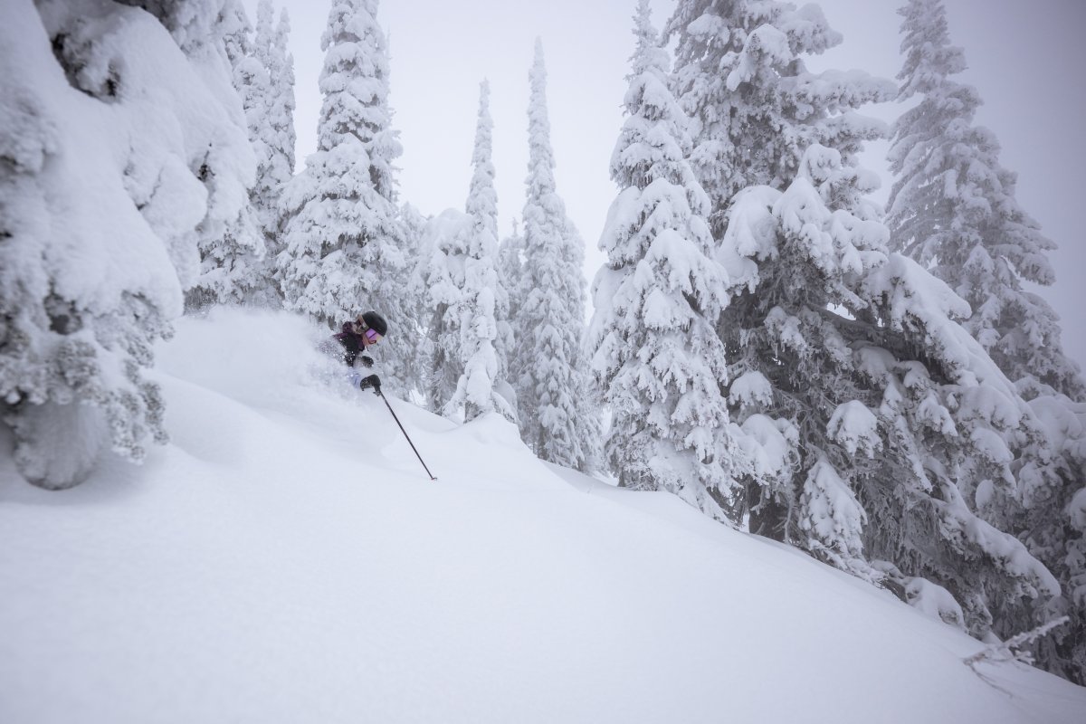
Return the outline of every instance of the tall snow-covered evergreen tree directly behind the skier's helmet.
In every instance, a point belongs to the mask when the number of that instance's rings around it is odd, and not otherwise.
[[[288,308],[330,327],[376,309],[390,325],[382,370],[393,390],[415,383],[411,251],[397,214],[389,58],[377,0],[334,0],[320,40],[324,102],[317,151],[283,191],[286,249],[278,257]],[[383,377],[382,377],[383,379]]]

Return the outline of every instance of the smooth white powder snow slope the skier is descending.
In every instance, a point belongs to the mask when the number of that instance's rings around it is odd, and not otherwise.
[[[0,722],[1086,721],[885,592],[392,399],[431,482],[317,334],[182,320],[172,443],[67,492],[0,440]]]

